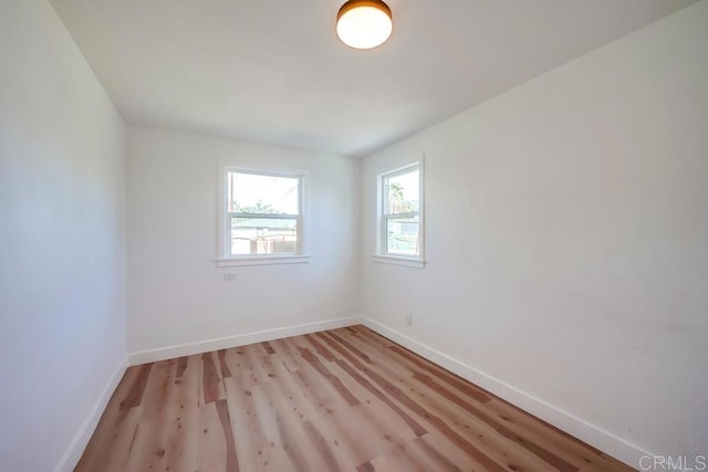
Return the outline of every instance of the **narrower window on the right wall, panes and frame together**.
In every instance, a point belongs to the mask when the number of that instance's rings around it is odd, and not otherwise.
[[[378,262],[423,266],[420,162],[378,176]]]

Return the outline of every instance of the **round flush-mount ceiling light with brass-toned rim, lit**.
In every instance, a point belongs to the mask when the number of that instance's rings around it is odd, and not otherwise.
[[[381,0],[348,0],[336,15],[336,35],[355,49],[383,44],[393,29],[391,9]]]

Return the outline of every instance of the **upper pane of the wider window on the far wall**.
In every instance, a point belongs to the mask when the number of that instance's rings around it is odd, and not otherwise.
[[[299,214],[300,179],[227,172],[227,201],[232,213]]]

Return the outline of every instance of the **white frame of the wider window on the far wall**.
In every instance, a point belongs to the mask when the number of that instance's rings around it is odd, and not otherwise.
[[[294,253],[285,254],[231,254],[231,218],[232,217],[252,217],[254,213],[236,213],[229,212],[229,202],[227,196],[228,175],[229,172],[253,174],[259,176],[288,177],[300,180],[299,190],[299,214],[268,214],[256,213],[258,218],[283,218],[292,217],[298,221],[298,250]],[[270,264],[298,264],[310,262],[309,253],[309,235],[308,231],[308,171],[304,169],[281,168],[270,166],[253,166],[238,162],[220,162],[219,164],[219,254],[217,256],[217,266],[233,265],[270,265]]]

